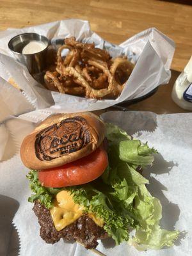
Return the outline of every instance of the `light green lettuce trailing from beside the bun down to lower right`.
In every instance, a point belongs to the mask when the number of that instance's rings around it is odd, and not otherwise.
[[[159,200],[150,195],[145,184],[148,180],[136,171],[138,166],[145,167],[152,164],[157,153],[154,148],[149,148],[147,143],[139,140],[125,139],[126,134],[114,125],[109,126],[109,164],[102,175],[106,184],[111,184],[115,189],[113,196],[120,199],[119,204],[129,211],[129,216],[134,218],[136,234],[129,239],[138,250],[161,249],[172,246],[179,236],[179,232],[161,229],[159,221],[162,218],[162,207]],[[118,132],[119,138],[118,140]],[[108,133],[107,133],[108,134]],[[115,138],[115,143],[113,141]],[[116,155],[118,154],[118,157]]]

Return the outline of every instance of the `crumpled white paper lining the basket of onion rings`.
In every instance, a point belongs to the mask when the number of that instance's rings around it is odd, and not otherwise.
[[[72,95],[51,92],[39,84],[24,65],[14,59],[8,49],[9,40],[20,33],[35,32],[47,36],[54,45],[56,39],[76,36],[83,42],[95,42],[95,46],[105,48],[111,56],[125,54],[133,63],[134,70],[129,77],[124,91],[115,100],[85,99]],[[175,45],[170,38],[155,28],[147,29],[132,36],[120,45],[106,42],[91,31],[88,21],[69,19],[42,24],[30,28],[8,29],[0,32],[0,76],[6,81],[13,79],[24,90],[29,102],[36,109],[51,112],[79,112],[108,108],[127,99],[146,95],[159,84],[168,83],[170,65]],[[50,109],[47,109],[51,106]]]

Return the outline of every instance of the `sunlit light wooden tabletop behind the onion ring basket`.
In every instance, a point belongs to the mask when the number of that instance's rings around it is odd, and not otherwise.
[[[181,71],[191,56],[192,6],[155,0],[0,0],[0,29],[23,28],[61,19],[89,20],[109,42],[156,27],[177,47],[172,68]]]

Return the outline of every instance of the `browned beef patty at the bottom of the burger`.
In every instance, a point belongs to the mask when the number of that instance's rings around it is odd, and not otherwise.
[[[95,224],[86,214],[74,221],[74,223],[57,231],[51,214],[44,205],[36,201],[33,211],[38,217],[38,223],[41,226],[40,236],[46,243],[54,244],[63,238],[66,240],[78,240],[84,244],[86,249],[92,249],[97,247],[97,239],[106,236],[105,230]]]

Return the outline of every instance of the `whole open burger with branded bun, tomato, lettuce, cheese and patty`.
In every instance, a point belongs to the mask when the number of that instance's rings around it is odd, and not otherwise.
[[[93,113],[45,119],[20,147],[42,239],[87,249],[106,237],[139,250],[172,246],[179,232],[160,228],[161,203],[141,175],[155,153]]]

